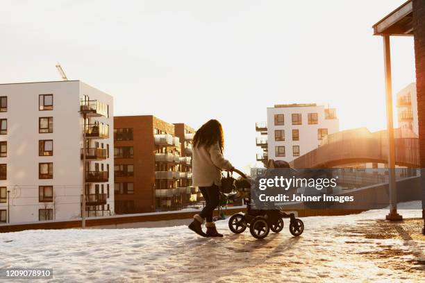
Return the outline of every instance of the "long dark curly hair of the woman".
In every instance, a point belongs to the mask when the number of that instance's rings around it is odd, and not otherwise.
[[[211,119],[210,121],[204,123],[201,128],[197,130],[193,137],[193,144],[196,147],[205,146],[206,148],[208,148],[217,142],[221,151],[223,151],[223,128],[222,124],[215,119]]]

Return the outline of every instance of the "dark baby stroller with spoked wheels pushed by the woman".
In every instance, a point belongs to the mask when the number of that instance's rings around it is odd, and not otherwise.
[[[281,211],[280,209],[252,209],[251,208],[251,182],[244,173],[234,169],[241,176],[240,180],[235,180],[228,175],[222,180],[222,196],[226,199],[243,198],[247,203],[247,212],[245,214],[233,214],[228,220],[228,228],[235,233],[240,234],[249,228],[249,232],[256,239],[264,239],[272,232],[278,233],[283,230],[283,218],[290,218],[289,230],[295,237],[301,235],[304,231],[304,223],[295,214]],[[233,179],[233,186],[229,185]],[[229,190],[230,188],[230,190]],[[226,192],[227,191],[227,192]]]

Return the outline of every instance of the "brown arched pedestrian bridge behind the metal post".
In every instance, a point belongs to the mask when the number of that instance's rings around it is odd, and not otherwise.
[[[419,139],[409,129],[394,129],[396,165],[419,168]],[[294,168],[330,168],[358,162],[387,163],[387,131],[367,128],[328,135],[322,144],[291,162]]]

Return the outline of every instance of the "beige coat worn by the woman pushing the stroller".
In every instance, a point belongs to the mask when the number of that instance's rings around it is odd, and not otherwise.
[[[221,170],[232,169],[231,162],[224,159],[219,144],[210,148],[205,146],[194,146],[192,154],[192,186],[210,187],[213,184],[222,184]]]

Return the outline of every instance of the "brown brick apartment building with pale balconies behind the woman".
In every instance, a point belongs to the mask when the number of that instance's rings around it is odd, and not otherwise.
[[[117,214],[180,209],[197,199],[190,187],[193,132],[152,115],[115,117]]]

